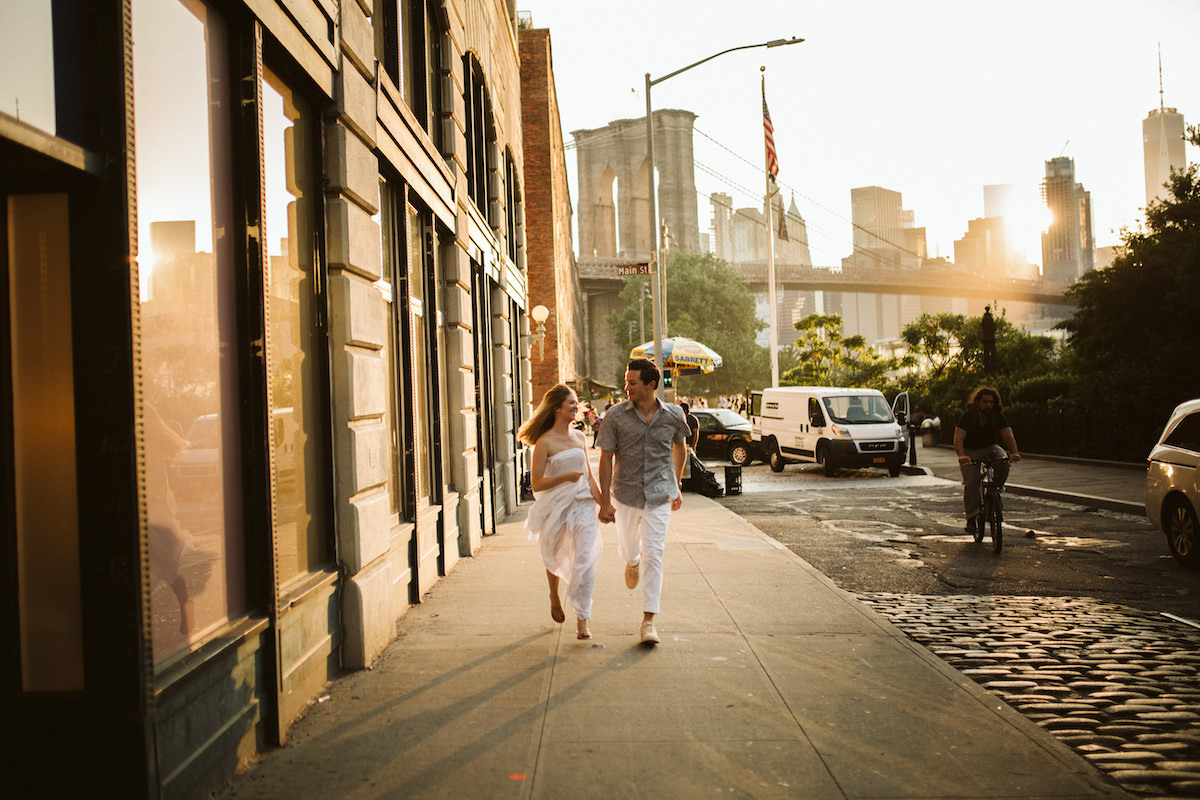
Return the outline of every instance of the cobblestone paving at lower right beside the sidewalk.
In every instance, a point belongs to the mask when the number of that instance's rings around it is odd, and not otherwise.
[[[1200,630],[1074,597],[858,593],[1140,796],[1200,798]]]

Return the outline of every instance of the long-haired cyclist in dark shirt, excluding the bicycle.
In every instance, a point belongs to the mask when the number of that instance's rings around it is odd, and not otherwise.
[[[962,470],[962,510],[966,512],[966,531],[974,534],[979,525],[979,469],[974,461],[1000,459],[1008,456],[1009,461],[1020,461],[1016,451],[1016,438],[1013,428],[1004,419],[1004,405],[1000,402],[1000,392],[991,386],[980,386],[971,395],[967,409],[959,417],[954,428],[954,452],[959,456],[959,469]],[[1008,464],[996,464],[996,486],[1003,487],[1008,480]]]

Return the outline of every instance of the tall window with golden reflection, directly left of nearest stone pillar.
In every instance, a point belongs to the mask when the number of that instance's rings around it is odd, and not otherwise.
[[[280,583],[331,560],[324,534],[320,469],[324,365],[316,325],[317,186],[310,106],[277,76],[263,72],[263,237],[268,277],[266,369],[271,383],[271,470]]]

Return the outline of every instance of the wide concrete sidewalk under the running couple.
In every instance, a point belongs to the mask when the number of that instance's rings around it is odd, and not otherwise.
[[[662,643],[638,644],[641,589],[602,530],[593,639],[569,606],[551,621],[511,518],[222,796],[1128,796],[696,494],[671,521]]]

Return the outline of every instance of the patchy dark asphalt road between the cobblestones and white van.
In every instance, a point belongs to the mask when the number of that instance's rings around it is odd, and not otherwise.
[[[722,467],[709,464],[719,477]],[[796,464],[780,474],[754,464],[742,481],[743,493],[720,503],[847,591],[1093,597],[1200,619],[1200,572],[1176,565],[1142,516],[1007,494],[997,555],[962,530],[956,482],[882,470],[824,477]]]

